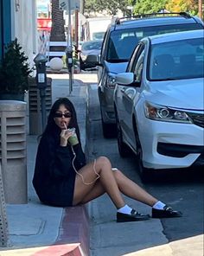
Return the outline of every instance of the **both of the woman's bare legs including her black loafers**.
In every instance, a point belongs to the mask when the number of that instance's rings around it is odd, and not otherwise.
[[[97,175],[94,173],[92,168],[93,163],[89,163],[80,170],[80,173],[85,178],[85,182],[92,182],[96,178]],[[154,206],[156,202],[158,202],[155,197],[138,186],[136,182],[133,182],[131,179],[124,176],[120,170],[113,171],[108,158],[99,157],[97,160],[96,171],[100,177],[90,185],[84,184],[81,180],[81,177],[76,176],[75,189],[73,193],[73,205],[90,202],[92,199],[99,197],[99,195],[103,195],[105,192],[111,197],[112,202],[115,204],[116,208],[124,207],[124,200],[120,192],[151,207]],[[160,202],[160,207],[161,203],[163,204],[163,202]],[[131,214],[128,213],[129,216],[127,217],[127,214],[125,213],[127,207],[128,206],[125,206],[125,210],[123,208],[124,213],[117,213],[118,222],[145,221],[149,219],[148,215],[138,214],[136,211],[132,213],[132,210]],[[174,211],[172,208],[152,208],[152,218],[169,218],[181,216],[181,212]]]

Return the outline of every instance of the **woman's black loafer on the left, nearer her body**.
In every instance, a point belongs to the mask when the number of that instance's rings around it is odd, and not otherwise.
[[[139,214],[136,210],[132,209],[131,214],[117,213],[117,222],[126,221],[146,221],[150,219],[149,214]]]

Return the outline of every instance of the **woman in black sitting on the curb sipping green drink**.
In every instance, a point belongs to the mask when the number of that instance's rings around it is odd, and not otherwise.
[[[56,100],[49,113],[37,150],[33,185],[42,203],[56,207],[84,204],[107,193],[117,208],[118,222],[150,218],[125,204],[122,194],[152,207],[152,218],[182,216],[112,168],[107,157],[86,163],[76,112],[67,98]]]

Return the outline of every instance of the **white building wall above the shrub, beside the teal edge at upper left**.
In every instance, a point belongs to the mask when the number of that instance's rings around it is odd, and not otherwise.
[[[38,49],[36,0],[11,0],[11,19],[12,40],[18,39],[32,66]]]

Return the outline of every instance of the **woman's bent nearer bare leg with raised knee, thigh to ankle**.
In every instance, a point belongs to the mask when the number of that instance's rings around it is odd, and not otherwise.
[[[79,175],[76,176],[73,192],[73,205],[83,202],[86,195],[92,191],[92,198],[90,198],[90,200],[106,192],[111,197],[116,208],[124,207],[124,199],[118,189],[118,184],[113,175],[112,165],[109,159],[106,157],[99,157],[95,169],[100,177],[99,180],[92,184],[86,185],[82,182]],[[88,163],[81,168],[80,174],[84,177],[85,182],[92,182],[96,178],[96,174],[93,171],[93,163]],[[96,185],[98,181],[102,186]],[[104,190],[101,189],[102,187]]]

